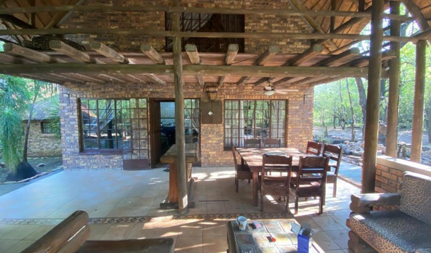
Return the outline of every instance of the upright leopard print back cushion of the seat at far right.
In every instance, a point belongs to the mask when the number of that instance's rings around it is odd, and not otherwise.
[[[399,209],[431,225],[431,177],[404,173]]]

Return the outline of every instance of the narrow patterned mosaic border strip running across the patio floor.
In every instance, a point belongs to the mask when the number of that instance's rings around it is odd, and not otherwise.
[[[239,215],[245,215],[250,219],[275,219],[294,218],[288,213],[222,213],[222,214],[192,214],[192,215],[167,215],[167,216],[131,216],[131,217],[103,217],[90,218],[88,224],[110,224],[110,223],[141,223],[150,221],[167,221],[178,219],[234,219]],[[63,219],[4,219],[0,218],[0,224],[11,225],[56,225]]]

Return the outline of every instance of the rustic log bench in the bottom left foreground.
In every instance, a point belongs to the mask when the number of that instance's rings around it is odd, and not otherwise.
[[[172,238],[87,241],[88,214],[75,211],[22,253],[173,253]]]

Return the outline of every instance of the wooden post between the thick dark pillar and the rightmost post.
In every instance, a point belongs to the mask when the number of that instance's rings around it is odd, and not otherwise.
[[[400,2],[390,1],[390,13],[400,14]],[[390,21],[390,35],[400,35],[398,20]],[[396,157],[398,138],[398,106],[400,97],[400,43],[391,42],[390,49],[395,58],[389,60],[389,99],[387,103],[386,155]]]

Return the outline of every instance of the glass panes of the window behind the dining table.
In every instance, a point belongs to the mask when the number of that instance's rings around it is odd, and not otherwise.
[[[225,100],[224,147],[244,147],[251,138],[279,139],[284,146],[284,100]]]

